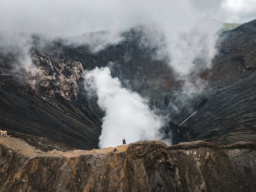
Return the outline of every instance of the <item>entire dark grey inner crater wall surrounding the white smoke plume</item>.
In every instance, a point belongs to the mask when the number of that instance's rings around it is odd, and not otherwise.
[[[41,48],[40,37],[33,36],[34,67],[28,71],[19,69],[17,55],[0,55],[0,126],[76,148],[96,148],[104,113],[95,98],[87,97],[82,76],[86,70],[113,62],[112,75],[124,86],[147,96],[151,108],[169,112],[165,132],[170,136],[172,130],[174,143],[198,139],[255,142],[255,31],[253,20],[224,32],[213,67],[202,77],[209,81],[209,88],[186,100],[179,91],[182,82],[176,80],[167,61],[152,57],[157,48],[140,45],[141,31],[126,32],[123,41],[96,53],[86,45],[68,46],[61,39]]]

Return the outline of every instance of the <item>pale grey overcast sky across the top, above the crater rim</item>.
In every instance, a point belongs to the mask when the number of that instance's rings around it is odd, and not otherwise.
[[[184,0],[179,4],[183,2],[193,4],[202,14],[210,10],[210,17],[223,22],[245,23],[256,18],[256,0]],[[150,22],[150,17],[156,18],[162,9],[186,15],[186,5],[177,10],[172,9],[176,6],[174,3],[166,0],[0,0],[0,31],[77,35],[123,30]]]

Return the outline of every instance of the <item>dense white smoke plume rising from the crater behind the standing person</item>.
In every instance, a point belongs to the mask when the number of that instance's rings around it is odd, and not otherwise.
[[[97,95],[98,105],[105,111],[99,147],[119,145],[123,137],[127,143],[161,140],[161,116],[151,111],[138,93],[122,88],[108,67],[89,71],[84,84],[89,93]]]

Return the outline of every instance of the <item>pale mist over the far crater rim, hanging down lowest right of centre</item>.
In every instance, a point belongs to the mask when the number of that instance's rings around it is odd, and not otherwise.
[[[217,20],[225,16],[224,2],[3,0],[0,24],[4,32],[41,33],[51,38],[66,38],[69,45],[88,44],[92,52],[117,44],[123,40],[121,32],[142,25],[151,42],[148,45],[159,48],[155,58],[168,56],[169,66],[182,77],[193,70],[196,58],[203,59],[204,66],[210,67],[222,27]],[[89,33],[94,31],[108,32]],[[164,36],[164,47],[159,34]],[[19,44],[16,38],[8,41]]]

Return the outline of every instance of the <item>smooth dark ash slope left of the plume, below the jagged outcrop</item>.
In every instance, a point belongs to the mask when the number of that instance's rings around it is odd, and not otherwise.
[[[50,97],[34,91],[15,74],[1,75],[0,87],[1,129],[47,137],[79,148],[97,147],[101,132],[100,120],[95,116],[97,106],[85,97],[78,95],[77,102]]]

